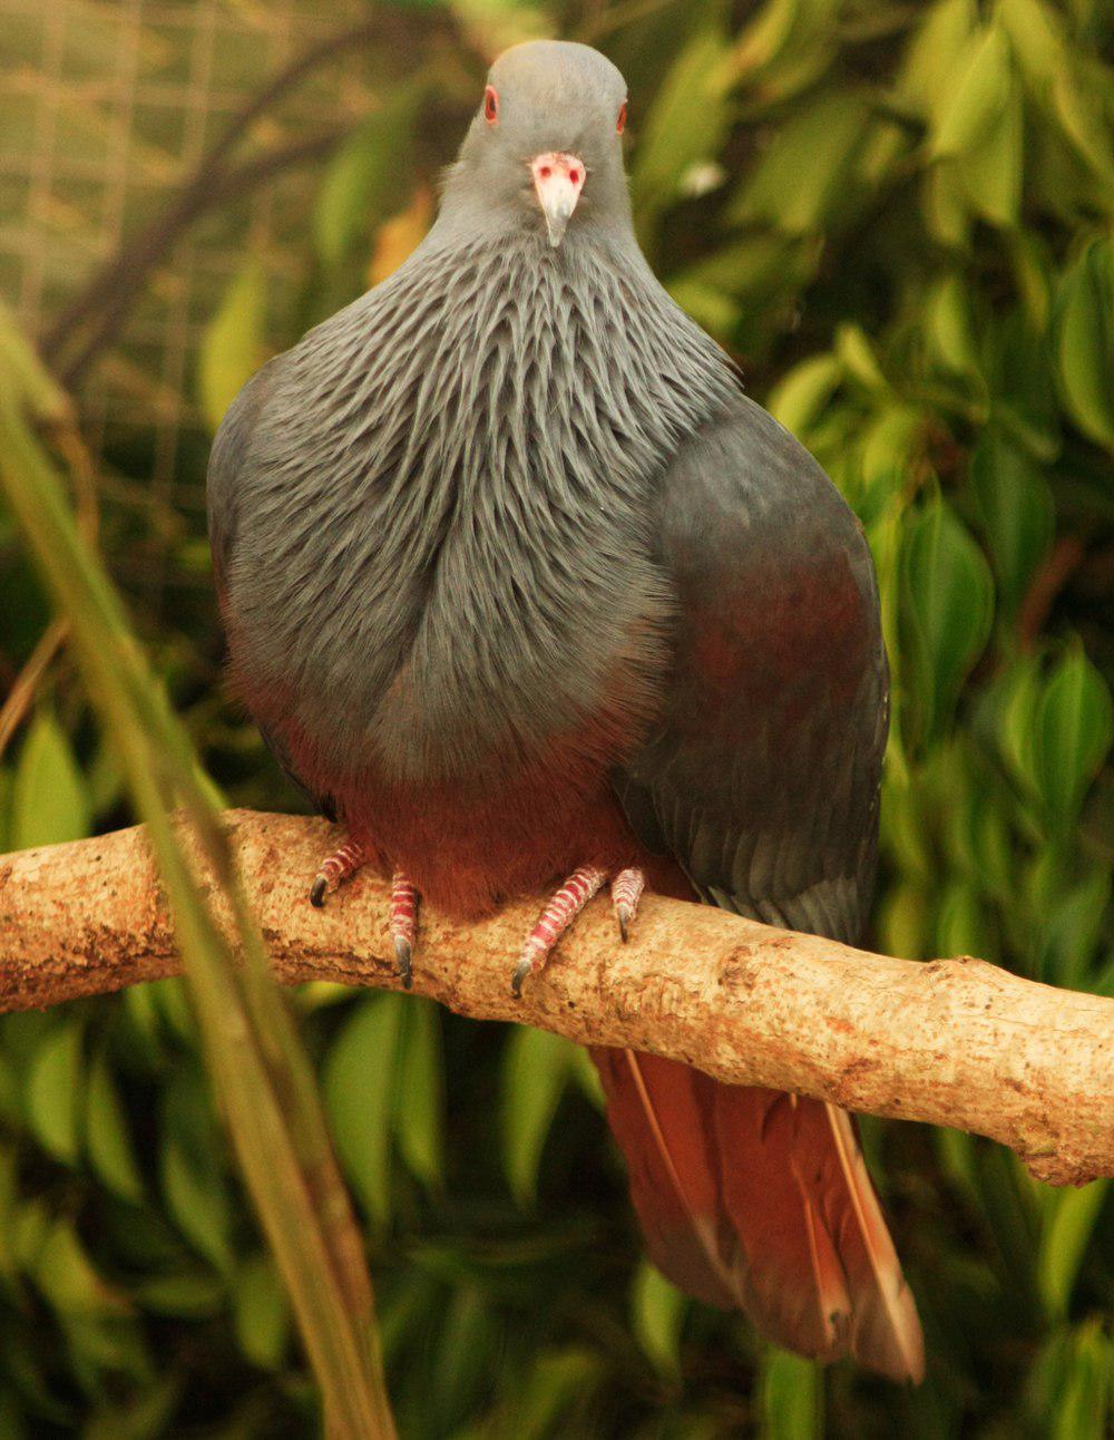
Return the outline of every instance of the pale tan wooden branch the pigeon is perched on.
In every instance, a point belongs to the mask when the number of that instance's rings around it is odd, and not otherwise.
[[[397,986],[387,886],[357,876],[324,910],[307,891],[324,821],[232,811],[229,832],[285,984]],[[708,1074],[928,1120],[1012,1146],[1052,1184],[1114,1175],[1114,1001],[984,960],[915,963],[648,896],[629,945],[593,901],[511,998],[537,903],[479,924],[423,910],[415,991],[463,1015],[632,1045]],[[0,1011],[174,975],[141,829],[0,858]]]

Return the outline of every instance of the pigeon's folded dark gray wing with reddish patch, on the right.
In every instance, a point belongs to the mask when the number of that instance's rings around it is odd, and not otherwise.
[[[853,940],[874,884],[888,677],[862,530],[746,397],[664,477],[678,598],[665,713],[615,785],[701,897]]]

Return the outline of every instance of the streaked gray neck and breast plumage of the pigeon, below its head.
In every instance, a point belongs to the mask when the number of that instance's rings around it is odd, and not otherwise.
[[[253,516],[282,593],[243,595],[299,723],[413,779],[580,723],[665,624],[655,480],[737,390],[633,236],[450,217],[286,360]]]

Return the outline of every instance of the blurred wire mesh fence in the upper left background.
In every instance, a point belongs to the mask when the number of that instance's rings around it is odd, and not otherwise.
[[[0,295],[43,336],[112,256],[163,213],[232,117],[296,55],[368,9],[360,0],[0,0]],[[366,52],[343,52],[259,115],[246,154],[354,122],[374,104]],[[199,338],[250,251],[269,321],[305,265],[314,167],[292,167],[187,226],[76,387],[94,456],[144,474],[148,514],[197,533],[209,436],[194,403]],[[140,461],[137,467],[135,461]],[[171,526],[173,527],[173,526]],[[168,546],[128,552],[153,600],[190,583]]]

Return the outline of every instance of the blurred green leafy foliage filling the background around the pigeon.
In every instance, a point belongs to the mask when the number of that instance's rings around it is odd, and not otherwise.
[[[630,84],[658,274],[874,547],[894,671],[874,942],[1114,994],[1110,6],[439,9],[459,46],[430,42],[420,82],[322,167],[296,327],[268,328],[245,235],[194,377],[210,423],[263,354],[417,242],[485,56],[527,33],[599,45]],[[115,560],[160,520],[140,467],[105,469]],[[200,533],[173,534],[196,573]],[[4,511],[0,560],[14,680],[50,600]],[[289,808],[223,697],[213,611],[206,593],[135,625],[223,795]],[[63,655],[0,766],[0,850],[130,816]],[[864,1126],[927,1329],[907,1394],[776,1352],[645,1266],[579,1051],[389,995],[308,986],[296,1008],[403,1434],[1110,1433],[1107,1185],[1054,1191],[983,1140]],[[308,1434],[309,1414],[181,986],[0,1020],[0,1440]]]

